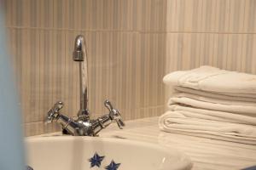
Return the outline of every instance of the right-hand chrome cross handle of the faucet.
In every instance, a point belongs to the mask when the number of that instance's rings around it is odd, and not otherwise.
[[[105,100],[104,105],[108,108],[109,117],[111,118],[111,120],[116,121],[120,129],[125,127],[125,122],[123,121],[123,118],[120,115],[119,111],[113,108],[113,105],[108,99]]]

